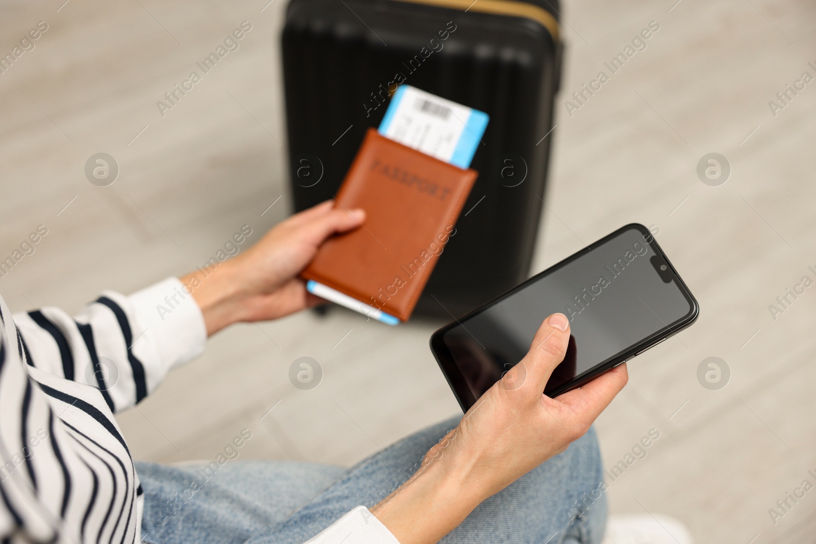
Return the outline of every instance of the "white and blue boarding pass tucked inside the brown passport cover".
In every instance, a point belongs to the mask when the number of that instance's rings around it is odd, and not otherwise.
[[[394,91],[377,131],[440,161],[468,168],[489,120],[487,113],[477,109],[401,85]],[[400,323],[396,317],[317,281],[309,280],[306,290],[387,325]]]

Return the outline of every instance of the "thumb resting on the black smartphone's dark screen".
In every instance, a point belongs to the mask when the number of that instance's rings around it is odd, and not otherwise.
[[[569,341],[570,321],[562,313],[548,316],[535,333],[530,351],[521,363],[525,365],[527,380],[537,391],[536,396],[544,390],[552,370],[564,360]]]

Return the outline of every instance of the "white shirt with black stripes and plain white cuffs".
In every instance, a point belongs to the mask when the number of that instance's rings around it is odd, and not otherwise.
[[[197,304],[168,278],[73,317],[12,316],[0,298],[0,321],[0,542],[139,542],[144,496],[113,414],[202,353]],[[362,510],[310,542],[398,544]]]

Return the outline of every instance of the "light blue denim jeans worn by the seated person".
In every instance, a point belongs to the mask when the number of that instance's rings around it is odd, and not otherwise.
[[[137,462],[150,544],[302,544],[355,506],[374,506],[410,476],[457,419],[400,440],[350,469],[307,462],[201,467]],[[606,521],[595,431],[482,502],[444,544],[599,544]]]

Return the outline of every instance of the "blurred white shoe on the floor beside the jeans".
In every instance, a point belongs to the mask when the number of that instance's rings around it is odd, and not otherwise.
[[[611,515],[601,544],[693,544],[689,529],[667,515]]]

